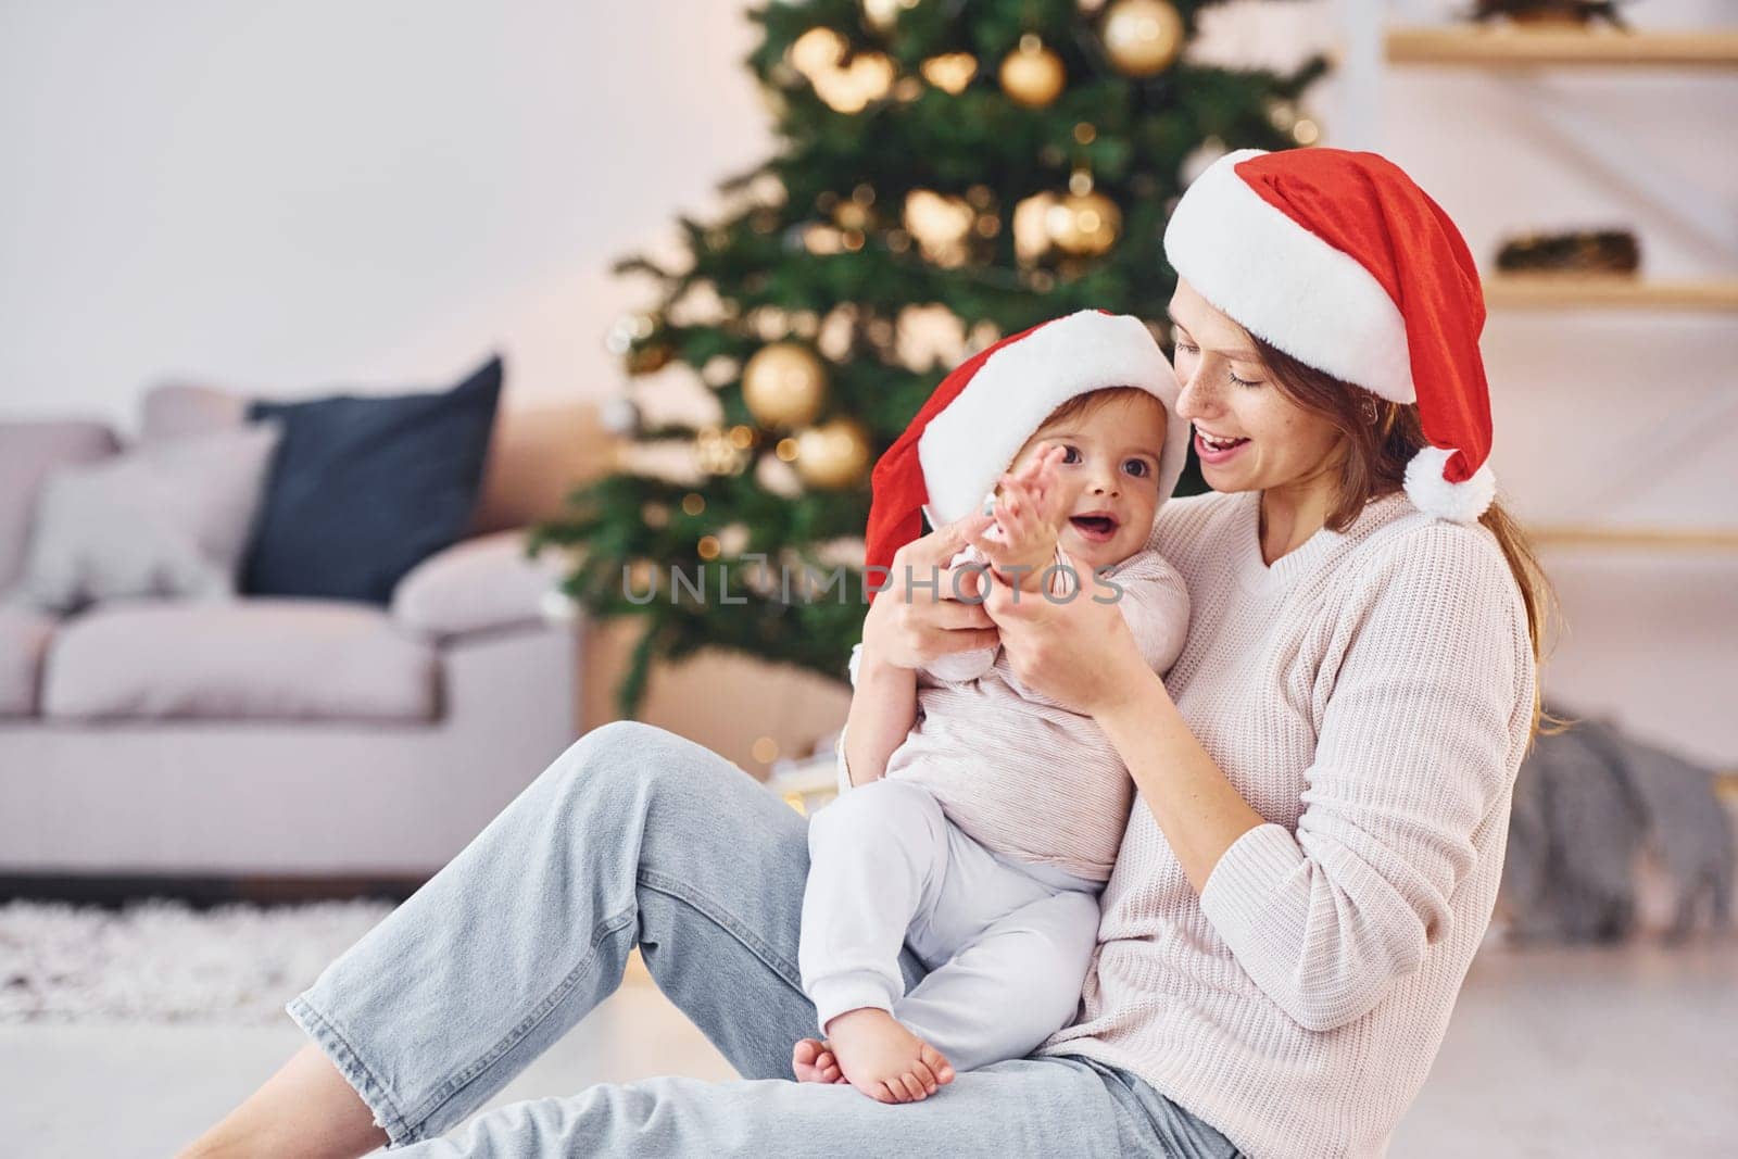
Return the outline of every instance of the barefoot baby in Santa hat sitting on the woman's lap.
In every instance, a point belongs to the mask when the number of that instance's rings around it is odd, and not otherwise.
[[[1187,452],[1175,398],[1135,318],[1081,311],[978,354],[876,466],[871,561],[899,546],[878,542],[890,516],[895,539],[918,530],[909,495],[940,525],[996,487],[994,525],[951,566],[985,565],[1027,599],[1114,601],[1147,664],[1170,669],[1189,596],[1145,542]],[[899,704],[855,695],[859,787],[810,820],[798,950],[827,1041],[798,1043],[793,1070],[911,1102],[1074,1017],[1133,784],[1097,725],[1022,686],[999,645],[918,669],[916,705],[909,688]],[[866,758],[878,733],[885,768]],[[909,992],[902,944],[928,968]]]

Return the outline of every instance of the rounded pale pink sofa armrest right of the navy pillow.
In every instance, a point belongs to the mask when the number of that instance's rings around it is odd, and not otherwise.
[[[429,639],[546,622],[561,556],[525,558],[525,532],[478,535],[438,551],[393,589],[393,620]]]

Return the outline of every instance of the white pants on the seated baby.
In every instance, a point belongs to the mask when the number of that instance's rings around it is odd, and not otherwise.
[[[1074,1018],[1102,888],[992,853],[919,785],[872,780],[808,820],[803,990],[822,1030],[876,1006],[956,1070],[1022,1058]],[[902,944],[930,968],[911,994]]]

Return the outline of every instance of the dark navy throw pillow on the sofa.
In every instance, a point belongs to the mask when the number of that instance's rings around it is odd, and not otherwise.
[[[440,394],[255,401],[283,438],[242,591],[388,603],[417,563],[464,535],[501,398],[501,358]]]

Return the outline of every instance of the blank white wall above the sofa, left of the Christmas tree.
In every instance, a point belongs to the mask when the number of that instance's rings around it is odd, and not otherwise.
[[[0,3],[0,412],[617,384],[620,254],[765,153],[735,3]]]

